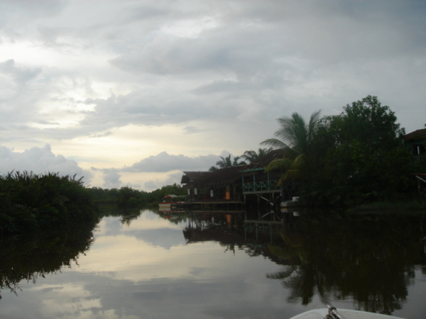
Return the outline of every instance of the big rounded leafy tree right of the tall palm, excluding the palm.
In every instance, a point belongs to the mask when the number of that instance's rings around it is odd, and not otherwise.
[[[322,119],[315,147],[322,156],[305,191],[331,203],[354,205],[386,200],[410,184],[410,155],[395,113],[376,96],[346,105]]]

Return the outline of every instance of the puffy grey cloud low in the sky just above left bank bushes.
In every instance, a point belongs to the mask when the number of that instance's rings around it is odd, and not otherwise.
[[[23,152],[0,146],[0,172],[33,172],[34,174],[45,174],[48,172],[59,173],[62,176],[76,175],[83,177],[84,184],[92,179],[92,174],[78,166],[73,159],[67,159],[62,155],[55,155],[50,150],[50,145],[44,147],[32,147]]]

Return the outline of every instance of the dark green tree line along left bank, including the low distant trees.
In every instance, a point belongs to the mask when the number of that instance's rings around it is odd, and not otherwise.
[[[184,195],[180,185],[151,191],[85,187],[82,179],[59,173],[10,172],[0,176],[0,238],[2,235],[58,230],[80,231],[96,225],[106,211],[126,213],[130,208],[163,200],[168,194]]]

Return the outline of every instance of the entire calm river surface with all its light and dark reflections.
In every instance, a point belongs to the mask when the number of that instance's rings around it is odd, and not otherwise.
[[[315,214],[146,210],[4,240],[0,318],[285,319],[325,303],[426,318],[425,218]]]

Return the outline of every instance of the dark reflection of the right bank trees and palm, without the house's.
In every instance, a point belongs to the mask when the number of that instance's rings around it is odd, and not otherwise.
[[[420,218],[332,216],[301,218],[297,233],[283,233],[283,247],[271,247],[283,264],[281,279],[289,302],[307,305],[317,293],[354,298],[357,308],[391,314],[405,302],[414,264],[424,258]]]

